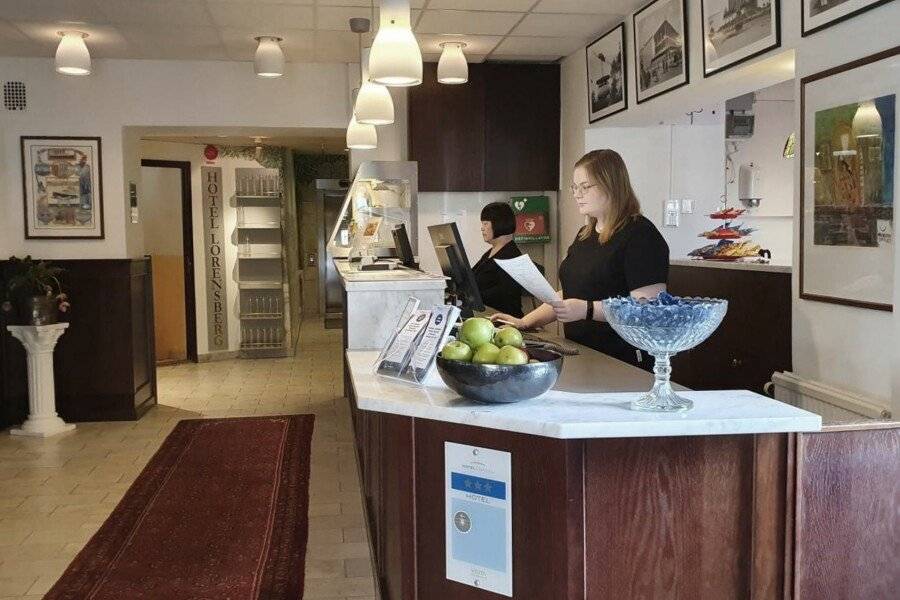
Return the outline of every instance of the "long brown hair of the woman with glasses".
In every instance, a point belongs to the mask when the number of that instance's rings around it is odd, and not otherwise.
[[[601,223],[599,235],[600,241],[606,243],[625,223],[641,214],[641,204],[631,187],[628,168],[619,153],[609,149],[591,150],[575,163],[575,168],[578,167],[587,170],[593,183],[609,198],[609,211]],[[596,235],[596,231],[597,219],[589,217],[587,225],[578,233],[578,239],[586,240]]]

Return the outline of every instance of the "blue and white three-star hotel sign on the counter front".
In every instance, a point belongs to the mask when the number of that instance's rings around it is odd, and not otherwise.
[[[447,579],[512,597],[510,453],[444,443]]]

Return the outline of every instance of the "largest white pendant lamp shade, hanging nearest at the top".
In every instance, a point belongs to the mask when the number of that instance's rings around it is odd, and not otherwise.
[[[369,75],[374,83],[391,87],[422,83],[422,51],[410,29],[409,0],[382,0]]]

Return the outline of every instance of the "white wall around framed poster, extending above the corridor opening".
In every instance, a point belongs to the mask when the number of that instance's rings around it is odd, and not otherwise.
[[[127,187],[140,167],[125,158],[137,155],[138,140],[123,127],[345,127],[347,73],[343,64],[295,63],[284,77],[261,80],[248,63],[95,60],[89,77],[63,77],[52,60],[0,58],[2,80],[25,82],[29,103],[27,111],[0,113],[0,256],[139,256],[140,228],[127,225]],[[24,239],[22,135],[102,138],[104,240]]]

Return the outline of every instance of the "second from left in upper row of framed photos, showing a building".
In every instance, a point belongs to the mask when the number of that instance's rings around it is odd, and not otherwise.
[[[632,19],[638,104],[687,85],[687,0],[653,0]]]

